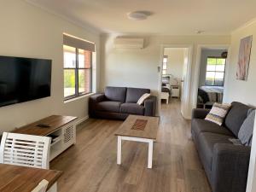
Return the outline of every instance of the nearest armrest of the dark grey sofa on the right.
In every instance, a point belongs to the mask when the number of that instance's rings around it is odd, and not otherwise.
[[[244,192],[251,148],[216,143],[212,156],[212,191]]]

